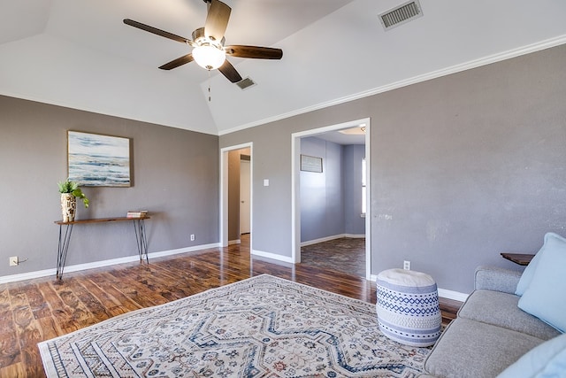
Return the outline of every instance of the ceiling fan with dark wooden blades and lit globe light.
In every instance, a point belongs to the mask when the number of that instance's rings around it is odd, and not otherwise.
[[[208,6],[206,21],[204,27],[195,29],[192,35],[192,41],[180,35],[165,32],[157,27],[150,27],[149,25],[142,24],[133,19],[124,19],[124,23],[155,35],[164,36],[173,41],[187,43],[193,47],[193,50],[187,55],[160,66],[159,68],[162,70],[171,70],[195,60],[199,66],[209,71],[218,68],[218,71],[225,75],[226,79],[232,82],[238,82],[241,81],[241,75],[226,59],[226,55],[237,58],[255,59],[280,59],[283,57],[283,50],[281,49],[240,44],[225,46],[226,38],[224,33],[226,32],[232,9],[219,0],[203,1]]]

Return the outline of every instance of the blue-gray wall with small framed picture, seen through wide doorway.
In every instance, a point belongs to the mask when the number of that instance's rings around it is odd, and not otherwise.
[[[344,234],[342,146],[317,137],[302,138],[301,152],[322,158],[322,173],[300,173],[301,241]]]

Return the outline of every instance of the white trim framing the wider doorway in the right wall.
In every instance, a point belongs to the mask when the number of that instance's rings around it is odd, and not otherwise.
[[[371,119],[352,120],[337,125],[314,128],[291,135],[291,259],[296,263],[301,262],[301,189],[300,189],[300,164],[301,164],[301,138],[305,136],[316,136],[328,131],[337,131],[344,128],[356,127],[365,124],[365,161],[366,161],[366,204],[365,212],[365,278],[371,280],[371,157],[370,157],[370,133]]]

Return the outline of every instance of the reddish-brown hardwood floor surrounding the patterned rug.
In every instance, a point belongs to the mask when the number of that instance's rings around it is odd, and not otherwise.
[[[36,344],[113,316],[161,305],[258,274],[272,274],[375,303],[375,283],[324,267],[249,258],[249,239],[228,248],[152,258],[0,285],[0,377],[44,377]],[[459,303],[443,308],[454,316]]]

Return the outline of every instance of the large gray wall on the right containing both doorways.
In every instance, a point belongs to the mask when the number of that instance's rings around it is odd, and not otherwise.
[[[479,264],[518,268],[499,253],[566,235],[564,66],[562,45],[222,135],[254,143],[254,249],[291,256],[291,134],[371,117],[372,274],[409,259],[470,292]]]

